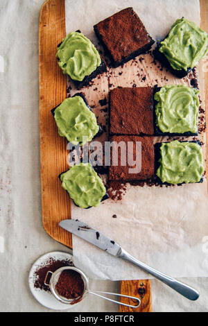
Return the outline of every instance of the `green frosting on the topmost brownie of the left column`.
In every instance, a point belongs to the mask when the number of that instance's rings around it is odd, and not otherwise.
[[[82,33],[71,32],[58,46],[56,57],[64,74],[82,81],[101,65],[101,57],[94,44]]]

